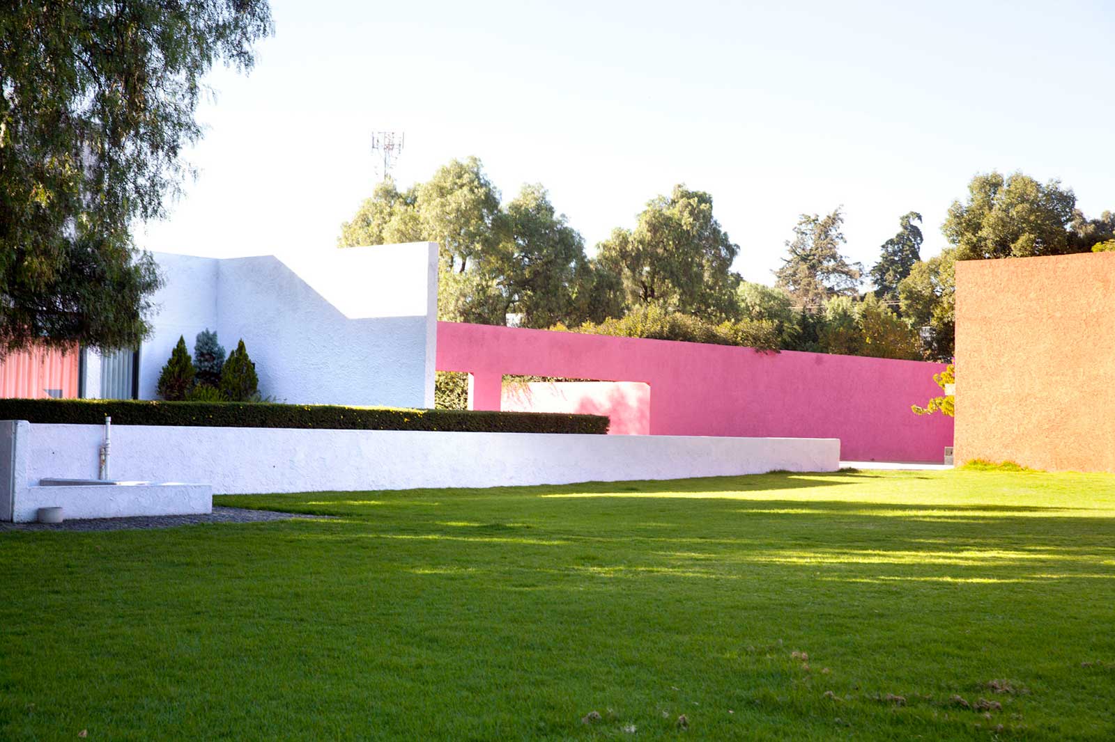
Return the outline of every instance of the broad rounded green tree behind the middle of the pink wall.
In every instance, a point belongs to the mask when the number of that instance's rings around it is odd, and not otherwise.
[[[658,304],[669,311],[727,319],[734,309],[739,254],[712,216],[712,197],[677,185],[639,214],[633,231],[617,228],[597,246],[601,267],[622,284],[628,307]]]

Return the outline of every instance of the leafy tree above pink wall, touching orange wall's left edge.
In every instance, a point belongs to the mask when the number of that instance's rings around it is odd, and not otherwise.
[[[952,359],[956,342],[956,248],[920,261],[899,284],[902,316],[918,332],[924,331],[928,360]]]

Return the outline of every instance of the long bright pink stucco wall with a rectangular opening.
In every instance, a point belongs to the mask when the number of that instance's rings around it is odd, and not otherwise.
[[[940,461],[952,418],[918,417],[941,363],[439,322],[437,368],[473,374],[497,410],[503,374],[650,384],[651,435],[840,438],[846,460]]]

